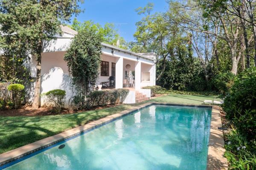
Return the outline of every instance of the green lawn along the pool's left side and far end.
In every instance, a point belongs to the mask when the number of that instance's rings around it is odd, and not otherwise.
[[[149,101],[201,105],[204,99],[214,99],[215,97],[169,94]],[[0,153],[132,108],[134,105],[138,104],[119,105],[95,111],[55,116],[0,116]]]

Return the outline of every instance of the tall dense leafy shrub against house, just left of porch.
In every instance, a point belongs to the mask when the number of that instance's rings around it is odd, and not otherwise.
[[[96,84],[102,53],[102,37],[96,30],[79,29],[65,54],[78,95],[85,97]]]

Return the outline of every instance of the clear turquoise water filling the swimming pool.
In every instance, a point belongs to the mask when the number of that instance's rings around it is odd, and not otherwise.
[[[211,111],[151,105],[6,170],[206,170]]]

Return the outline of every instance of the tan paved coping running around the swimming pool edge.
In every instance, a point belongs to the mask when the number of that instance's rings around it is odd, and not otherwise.
[[[105,118],[96,120],[94,122],[87,123],[79,127],[64,131],[54,136],[27,144],[25,146],[19,147],[14,150],[10,150],[6,153],[0,154],[0,169],[6,168],[15,164],[19,161],[22,161],[28,157],[34,156],[37,153],[43,152],[44,150],[49,149],[49,147],[54,147],[59,145],[59,142],[66,142],[81,133],[88,132],[102,125],[113,122],[116,119],[119,119],[122,116],[125,116],[130,113],[134,113],[142,108],[148,107],[150,105],[175,105],[175,106],[192,106],[192,107],[204,107],[212,108],[212,118],[211,118],[211,127],[210,127],[210,136],[209,136],[209,148],[208,148],[208,158],[207,158],[207,170],[227,170],[227,159],[224,158],[224,140],[223,140],[223,131],[219,130],[218,127],[221,127],[221,116],[218,106],[209,106],[209,105],[178,105],[170,103],[158,103],[158,102],[149,102],[143,105],[135,106],[134,108],[115,113],[113,115],[107,116]]]

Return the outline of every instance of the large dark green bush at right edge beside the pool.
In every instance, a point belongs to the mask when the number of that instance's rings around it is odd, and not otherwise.
[[[256,67],[236,77],[223,109],[244,140],[256,145]]]

